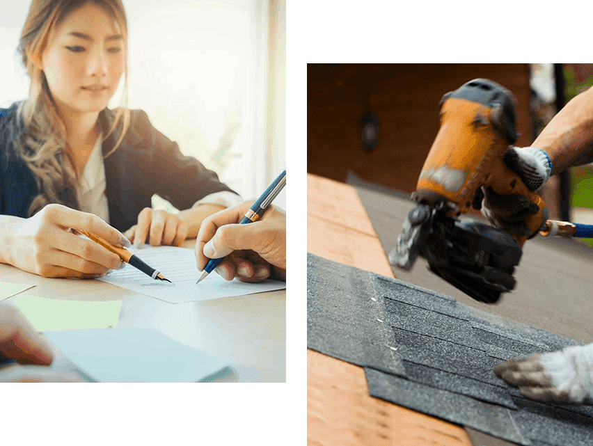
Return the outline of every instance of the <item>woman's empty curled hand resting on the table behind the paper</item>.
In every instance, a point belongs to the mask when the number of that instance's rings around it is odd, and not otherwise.
[[[180,246],[187,239],[188,229],[187,221],[180,216],[162,209],[145,207],[138,214],[138,224],[124,234],[134,246],[142,246],[147,241],[152,246]]]

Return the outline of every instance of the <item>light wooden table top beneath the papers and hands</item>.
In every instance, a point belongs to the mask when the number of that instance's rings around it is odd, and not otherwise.
[[[184,247],[195,244],[190,239]],[[100,280],[42,278],[7,264],[0,264],[0,282],[35,285],[16,296],[122,301],[119,327],[150,328],[205,353],[232,357],[233,374],[217,381],[286,382],[285,289],[171,304]]]

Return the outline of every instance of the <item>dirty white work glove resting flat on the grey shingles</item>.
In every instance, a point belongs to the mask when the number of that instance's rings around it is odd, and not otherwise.
[[[494,374],[525,398],[553,404],[593,404],[593,344],[509,360]]]

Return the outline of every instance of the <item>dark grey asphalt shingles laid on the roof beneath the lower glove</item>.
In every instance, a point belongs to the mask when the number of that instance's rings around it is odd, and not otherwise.
[[[593,408],[521,397],[504,360],[580,342],[307,254],[307,347],[365,367],[370,394],[520,445],[593,444]]]

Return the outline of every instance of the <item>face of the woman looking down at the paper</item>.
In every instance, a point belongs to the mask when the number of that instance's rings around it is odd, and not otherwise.
[[[42,70],[64,111],[102,111],[116,93],[125,61],[117,24],[93,3],[75,10],[42,53]],[[93,91],[86,87],[103,86]]]

